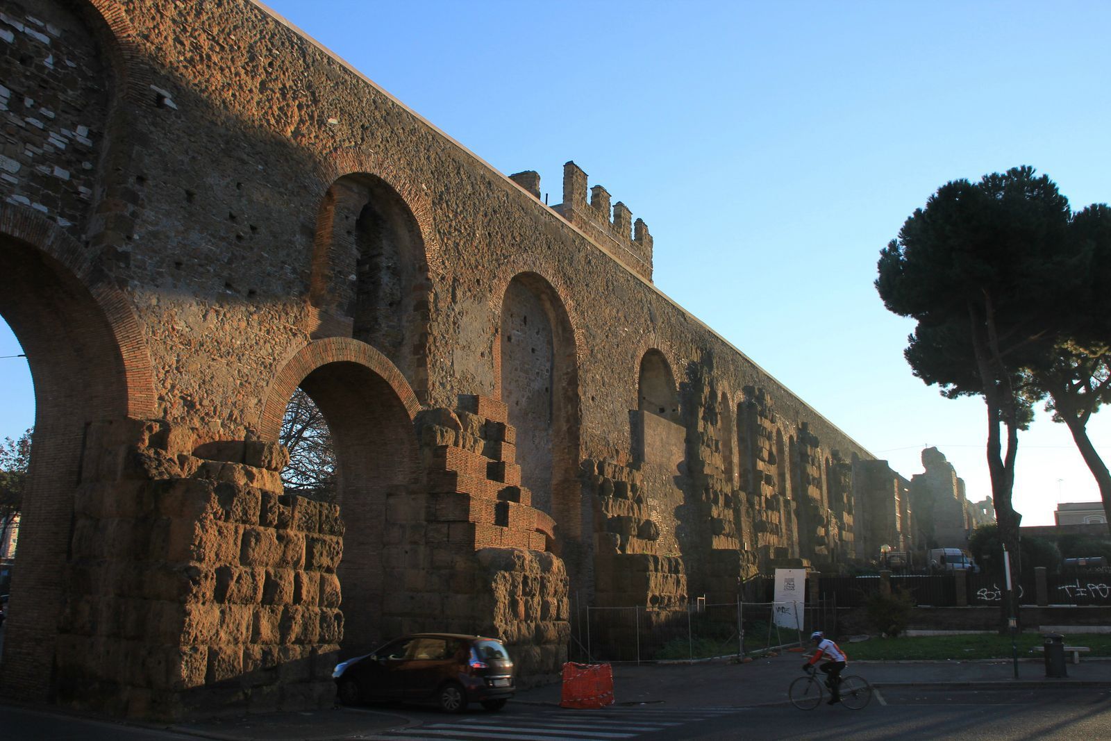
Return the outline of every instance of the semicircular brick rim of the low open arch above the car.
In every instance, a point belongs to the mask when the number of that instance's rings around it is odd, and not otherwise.
[[[309,373],[334,362],[362,366],[386,381],[406,409],[410,421],[420,411],[420,401],[401,371],[381,352],[348,337],[329,337],[302,347],[278,370],[267,387],[266,404],[258,423],[259,437],[268,442],[278,440],[282,417],[293,391]]]

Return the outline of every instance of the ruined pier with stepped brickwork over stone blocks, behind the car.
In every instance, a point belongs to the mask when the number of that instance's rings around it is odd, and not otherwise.
[[[554,522],[521,483],[507,417],[503,403],[470,395],[418,419],[428,493],[388,504],[382,557],[401,585],[387,594],[382,630],[501,638],[529,687],[567,660],[568,577],[549,552]]]

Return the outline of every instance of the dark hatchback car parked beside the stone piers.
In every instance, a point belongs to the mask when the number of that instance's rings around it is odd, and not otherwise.
[[[416,633],[373,653],[348,659],[332,672],[340,702],[434,701],[444,712],[469,702],[501,710],[513,697],[513,662],[496,638]]]

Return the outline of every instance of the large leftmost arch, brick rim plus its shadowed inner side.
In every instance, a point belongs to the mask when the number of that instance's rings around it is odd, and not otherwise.
[[[151,417],[154,390],[130,302],[97,280],[81,246],[57,224],[0,207],[0,314],[27,354],[36,398],[0,682],[13,695],[42,699],[51,690],[87,427]]]

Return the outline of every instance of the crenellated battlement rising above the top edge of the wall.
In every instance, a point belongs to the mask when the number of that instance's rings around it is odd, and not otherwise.
[[[534,171],[509,176],[517,184],[540,198],[540,176]],[[563,166],[563,202],[553,206],[561,217],[591,239],[605,246],[630,270],[652,280],[652,234],[642,219],[632,221],[632,211],[618,201],[610,206],[610,192],[602,186],[590,188],[587,173],[574,162]]]

